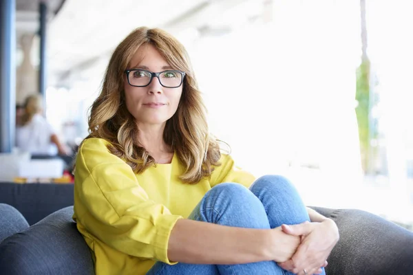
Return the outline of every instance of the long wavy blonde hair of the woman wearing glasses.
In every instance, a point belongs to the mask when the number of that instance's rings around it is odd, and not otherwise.
[[[91,107],[88,137],[109,141],[109,151],[124,159],[135,173],[155,165],[155,159],[138,144],[138,126],[125,103],[124,71],[142,45],[153,45],[169,65],[186,73],[178,109],[167,120],[163,137],[184,165],[180,179],[196,184],[211,175],[213,166],[219,165],[220,148],[209,135],[207,111],[189,56],[184,46],[163,30],[138,28],[116,47],[105,72],[102,91]]]

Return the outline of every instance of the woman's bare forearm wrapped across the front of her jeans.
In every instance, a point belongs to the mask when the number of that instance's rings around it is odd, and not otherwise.
[[[235,228],[180,219],[169,238],[168,257],[199,264],[277,261],[292,256],[298,245],[299,238],[284,234],[281,228]]]

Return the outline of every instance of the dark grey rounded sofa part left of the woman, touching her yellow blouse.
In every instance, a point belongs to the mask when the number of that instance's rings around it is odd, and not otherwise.
[[[94,274],[72,214],[73,206],[63,208],[0,243],[0,274]]]

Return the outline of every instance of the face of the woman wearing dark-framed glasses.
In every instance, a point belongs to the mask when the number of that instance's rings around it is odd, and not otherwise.
[[[153,45],[142,45],[129,63],[128,69],[144,69],[149,72],[163,72],[172,68]],[[145,73],[145,72],[143,72]],[[171,78],[171,74],[165,77]],[[131,72],[130,81],[142,81],[145,74]],[[182,76],[183,77],[183,76]],[[132,80],[135,78],[135,80]],[[162,76],[160,76],[162,78]],[[169,80],[163,80],[165,83]],[[183,85],[183,84],[182,84]],[[153,77],[146,87],[129,85],[125,74],[125,100],[129,113],[138,124],[165,124],[178,109],[182,85],[178,88],[166,88],[160,85],[159,79]]]

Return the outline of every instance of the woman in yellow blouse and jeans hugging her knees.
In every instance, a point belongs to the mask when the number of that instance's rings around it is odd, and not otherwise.
[[[173,36],[138,28],[116,47],[89,131],[74,219],[96,274],[324,274],[337,226],[220,153]]]

